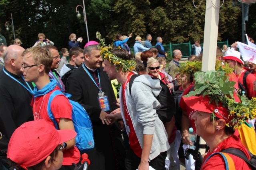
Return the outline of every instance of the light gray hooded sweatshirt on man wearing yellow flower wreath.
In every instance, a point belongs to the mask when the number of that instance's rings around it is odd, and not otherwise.
[[[141,75],[134,79],[131,89],[132,95],[129,92],[129,83],[126,86],[125,92],[127,109],[141,148],[143,147],[143,134],[153,135],[149,160],[156,158],[161,152],[165,152],[170,148],[168,135],[156,113],[156,109],[161,106],[154,97],[158,96],[161,91],[159,81],[153,80],[149,75]],[[120,88],[120,94],[122,94],[122,88]],[[120,101],[122,118],[126,122],[122,98],[120,98]],[[128,136],[129,129],[126,125]],[[129,141],[132,142],[132,140],[129,137]]]

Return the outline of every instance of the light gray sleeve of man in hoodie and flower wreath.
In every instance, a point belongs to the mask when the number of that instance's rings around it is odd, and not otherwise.
[[[144,86],[144,84],[134,82],[132,89],[138,86]],[[133,91],[134,90],[132,90],[132,92]],[[155,131],[155,120],[157,117],[154,106],[158,106],[159,102],[149,90],[142,90],[136,94],[132,94],[132,96],[133,95],[134,103],[136,104],[136,111],[138,112],[138,122],[143,126],[143,134],[153,135]]]

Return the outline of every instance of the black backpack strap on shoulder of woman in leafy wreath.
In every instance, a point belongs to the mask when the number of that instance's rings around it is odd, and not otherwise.
[[[254,154],[252,154],[249,150],[249,154],[250,154],[250,160],[248,160],[248,158],[246,157],[246,155],[244,154],[244,152],[242,152],[242,150],[236,149],[236,148],[228,148],[228,149],[224,149],[221,152],[224,153],[229,153],[232,155],[235,155],[241,159],[243,159],[248,165],[251,166],[252,170],[256,170],[256,156]]]

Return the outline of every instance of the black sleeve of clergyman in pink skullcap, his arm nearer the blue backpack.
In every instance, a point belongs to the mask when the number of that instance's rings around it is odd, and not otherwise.
[[[84,107],[86,112],[88,113],[91,121],[98,122],[101,109],[99,107],[89,106],[89,105],[82,103],[83,92],[82,92],[82,87],[78,83],[78,80],[76,78],[74,78],[73,76],[70,76],[67,81],[67,87],[68,87],[66,89],[67,92],[72,95],[70,100],[80,103]],[[90,96],[88,96],[88,97],[90,97]]]

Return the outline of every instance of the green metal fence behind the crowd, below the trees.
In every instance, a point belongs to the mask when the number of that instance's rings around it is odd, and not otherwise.
[[[179,49],[182,52],[182,55],[183,55],[182,58],[187,58],[188,56],[190,56],[191,46],[193,44],[191,44],[189,41],[188,43],[183,43],[183,44],[170,43],[169,45],[163,45],[163,47],[164,47],[164,51],[168,54],[168,60],[172,60],[172,51],[174,51],[175,49]],[[228,40],[223,41],[223,42],[218,42],[217,46],[222,49],[223,45],[225,45],[225,44],[228,45]],[[203,46],[203,44],[200,44],[200,45]],[[153,47],[155,47],[155,46],[153,46]],[[130,51],[132,54],[134,54],[133,48],[130,48]]]

